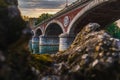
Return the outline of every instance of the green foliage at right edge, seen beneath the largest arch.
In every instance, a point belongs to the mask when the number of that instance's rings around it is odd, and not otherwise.
[[[120,28],[117,26],[116,23],[112,23],[107,26],[106,31],[112,35],[114,38],[120,39]]]

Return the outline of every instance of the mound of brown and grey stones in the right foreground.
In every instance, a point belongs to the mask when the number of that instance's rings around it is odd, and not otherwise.
[[[113,38],[100,25],[85,26],[65,52],[53,57],[52,80],[120,80],[120,40]],[[47,73],[48,74],[48,73]],[[48,77],[48,76],[47,76]],[[48,80],[48,79],[47,79]]]

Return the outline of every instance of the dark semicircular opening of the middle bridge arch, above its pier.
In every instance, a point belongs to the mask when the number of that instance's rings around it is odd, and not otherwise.
[[[58,37],[61,33],[63,33],[63,29],[57,23],[51,23],[47,26],[45,30],[45,36],[56,36]]]

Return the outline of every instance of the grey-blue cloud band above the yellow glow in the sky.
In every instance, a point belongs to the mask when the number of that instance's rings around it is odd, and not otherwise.
[[[58,9],[64,0],[19,0],[20,8]]]

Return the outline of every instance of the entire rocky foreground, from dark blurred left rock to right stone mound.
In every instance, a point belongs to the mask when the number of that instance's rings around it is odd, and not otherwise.
[[[31,55],[17,0],[0,0],[0,80],[120,80],[120,40],[90,23],[64,52]]]

